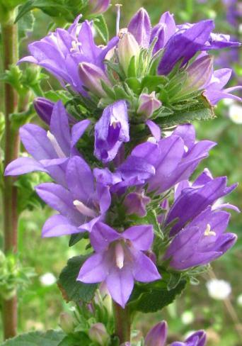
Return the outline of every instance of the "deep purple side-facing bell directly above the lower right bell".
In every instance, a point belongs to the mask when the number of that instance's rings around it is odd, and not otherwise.
[[[176,191],[176,199],[168,213],[166,224],[178,218],[178,222],[171,228],[171,235],[175,235],[188,221],[198,216],[207,206],[233,191],[237,184],[226,187],[227,178],[212,178],[208,170],[195,180],[192,186]],[[183,183],[182,183],[183,184]],[[185,184],[187,185],[187,184]]]

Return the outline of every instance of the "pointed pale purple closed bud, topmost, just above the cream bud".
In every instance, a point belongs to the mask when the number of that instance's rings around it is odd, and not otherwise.
[[[149,47],[151,37],[151,21],[149,14],[145,9],[139,9],[134,14],[127,27],[129,33],[132,33],[137,43],[143,48]]]

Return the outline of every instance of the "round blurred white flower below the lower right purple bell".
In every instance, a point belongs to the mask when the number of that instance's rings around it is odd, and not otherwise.
[[[223,301],[231,294],[231,285],[224,280],[211,279],[206,286],[209,296],[217,300]]]

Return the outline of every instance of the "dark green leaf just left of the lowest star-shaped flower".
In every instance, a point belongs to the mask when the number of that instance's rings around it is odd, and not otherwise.
[[[67,301],[88,303],[95,294],[97,284],[83,284],[83,282],[76,281],[81,266],[87,258],[88,256],[72,257],[59,275],[58,286]]]

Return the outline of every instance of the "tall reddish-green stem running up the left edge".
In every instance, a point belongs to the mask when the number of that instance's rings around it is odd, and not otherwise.
[[[3,69],[8,69],[18,61],[18,28],[13,23],[15,13],[8,13],[9,21],[1,24]],[[5,145],[4,165],[18,157],[18,131],[11,127],[11,114],[18,110],[18,94],[10,84],[4,85]],[[18,210],[17,188],[13,177],[4,177],[4,251],[17,251]],[[16,335],[17,330],[17,297],[3,301],[4,339]]]

